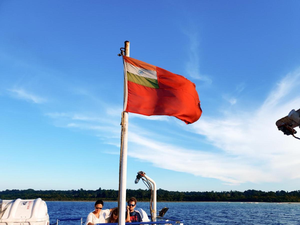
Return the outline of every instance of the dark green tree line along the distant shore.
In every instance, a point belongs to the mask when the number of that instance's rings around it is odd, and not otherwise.
[[[148,189],[126,190],[126,198],[135,196],[139,201],[149,201]],[[0,191],[0,199],[36,199],[46,201],[117,201],[118,190],[4,190]],[[295,191],[168,191],[157,190],[157,201],[226,201],[226,202],[300,202],[300,190]]]

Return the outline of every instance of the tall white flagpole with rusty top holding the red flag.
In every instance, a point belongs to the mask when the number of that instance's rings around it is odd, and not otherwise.
[[[125,56],[129,56],[129,43],[130,43],[129,41],[125,41]],[[127,101],[127,80],[126,79],[124,83],[124,88],[125,88],[125,100],[124,100],[124,104],[125,104],[125,101]],[[128,112],[124,112],[123,126],[124,126],[124,131],[123,131],[123,149],[122,149],[122,158],[121,158],[119,225],[125,225],[125,213],[126,213]]]

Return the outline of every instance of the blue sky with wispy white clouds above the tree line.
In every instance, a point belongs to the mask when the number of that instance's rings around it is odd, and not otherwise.
[[[127,187],[298,190],[299,1],[1,1],[0,190],[118,189],[124,41],[196,84],[191,125],[129,113]]]

